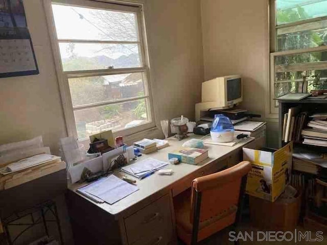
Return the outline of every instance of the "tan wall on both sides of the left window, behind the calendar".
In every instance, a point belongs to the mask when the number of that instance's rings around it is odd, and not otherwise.
[[[40,74],[0,79],[0,144],[42,135],[44,144],[58,154],[58,141],[66,136],[66,128],[48,26],[42,0],[24,0],[24,5]],[[203,81],[200,2],[147,0],[145,15],[156,124],[181,114],[193,119]],[[161,130],[146,133],[158,137]],[[69,244],[72,237],[64,200],[59,206]]]

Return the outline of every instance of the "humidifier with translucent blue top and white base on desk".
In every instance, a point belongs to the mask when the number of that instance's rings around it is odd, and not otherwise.
[[[231,142],[234,139],[234,126],[228,117],[216,114],[210,134],[214,142]]]

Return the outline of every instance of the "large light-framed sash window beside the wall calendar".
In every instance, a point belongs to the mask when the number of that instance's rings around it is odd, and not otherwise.
[[[128,135],[154,127],[141,6],[49,1],[68,134]]]

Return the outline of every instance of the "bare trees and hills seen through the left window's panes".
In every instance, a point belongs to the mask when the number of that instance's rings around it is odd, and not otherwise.
[[[136,14],[55,4],[53,10],[64,71],[93,70],[95,73],[108,67],[141,66]],[[64,21],[63,16],[68,15],[69,21]],[[61,42],[61,38],[71,41]],[[76,42],[76,39],[102,41]],[[122,41],[132,43],[120,43]],[[73,107],[143,96],[143,76],[138,72],[69,78]],[[146,103],[142,99],[75,110],[78,137],[141,124],[148,120]]]

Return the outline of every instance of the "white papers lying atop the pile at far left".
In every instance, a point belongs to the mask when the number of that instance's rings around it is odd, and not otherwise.
[[[7,175],[14,173],[16,171],[40,165],[55,159],[60,159],[60,157],[49,155],[49,154],[39,154],[29,158],[21,159],[17,162],[11,163],[6,167],[0,168],[0,174]]]

